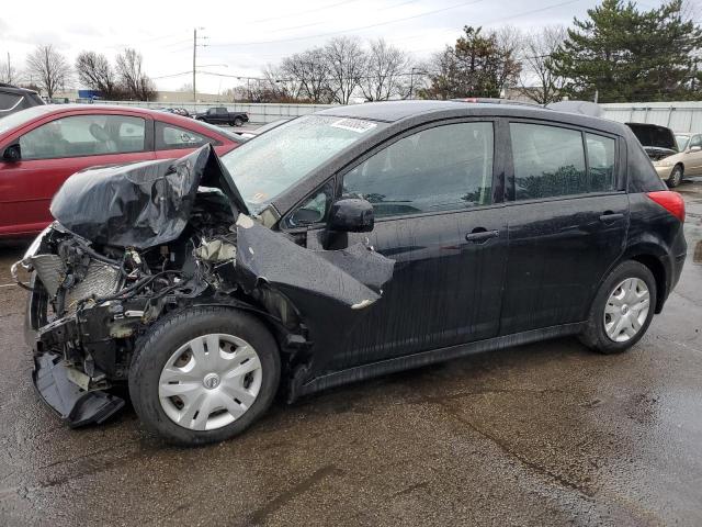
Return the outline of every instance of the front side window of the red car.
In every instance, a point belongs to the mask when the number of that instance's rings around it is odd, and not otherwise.
[[[20,137],[22,159],[126,154],[145,149],[146,121],[127,115],[72,115]]]

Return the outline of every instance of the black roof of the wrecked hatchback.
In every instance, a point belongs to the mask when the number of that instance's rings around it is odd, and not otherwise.
[[[599,128],[605,132],[623,134],[624,125],[614,121],[585,115],[581,113],[550,110],[531,104],[489,103],[489,102],[463,102],[463,101],[385,101],[335,106],[316,112],[316,115],[330,115],[350,119],[363,119],[395,123],[403,120],[422,117],[431,120],[437,117],[465,117],[465,116],[506,116],[522,119],[539,119],[557,121]]]

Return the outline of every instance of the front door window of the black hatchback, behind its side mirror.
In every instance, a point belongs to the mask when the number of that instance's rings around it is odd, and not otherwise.
[[[423,130],[347,173],[343,193],[369,200],[376,216],[489,204],[492,141],[491,123]]]

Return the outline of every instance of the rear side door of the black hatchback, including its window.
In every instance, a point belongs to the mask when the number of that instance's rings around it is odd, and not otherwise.
[[[624,249],[629,199],[619,142],[567,125],[511,122],[502,335],[587,318]]]

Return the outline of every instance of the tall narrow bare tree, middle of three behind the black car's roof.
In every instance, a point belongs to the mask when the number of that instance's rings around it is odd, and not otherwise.
[[[325,46],[325,58],[329,68],[327,86],[332,100],[348,104],[365,71],[365,51],[358,38],[339,36]]]

